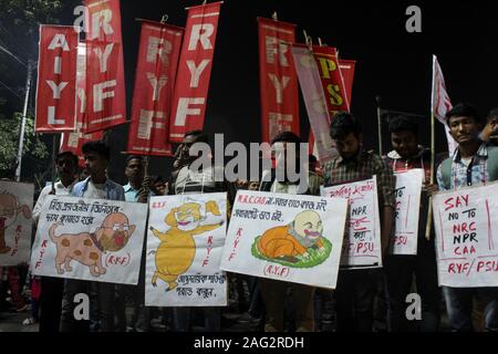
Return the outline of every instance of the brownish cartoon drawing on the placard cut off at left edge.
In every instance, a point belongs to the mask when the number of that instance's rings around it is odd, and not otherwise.
[[[0,254],[8,253],[11,248],[6,243],[6,231],[12,226],[18,216],[22,214],[24,218],[31,218],[31,209],[22,206],[19,199],[7,191],[0,192]]]

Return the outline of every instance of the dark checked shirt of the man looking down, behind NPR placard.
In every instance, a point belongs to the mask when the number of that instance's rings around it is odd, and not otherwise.
[[[377,177],[380,206],[394,208],[394,175],[378,155],[360,152],[351,160],[338,156],[323,166],[325,187],[370,179],[374,175]]]

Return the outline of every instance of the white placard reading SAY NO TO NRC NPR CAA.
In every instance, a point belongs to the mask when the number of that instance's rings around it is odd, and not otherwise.
[[[433,198],[439,284],[498,287],[498,184]]]

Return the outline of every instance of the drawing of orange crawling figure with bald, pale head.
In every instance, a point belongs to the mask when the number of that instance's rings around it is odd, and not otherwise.
[[[322,240],[323,226],[320,215],[312,210],[298,214],[287,226],[271,228],[257,242],[259,252],[270,259],[298,262],[309,258],[309,249],[315,248],[324,253]]]

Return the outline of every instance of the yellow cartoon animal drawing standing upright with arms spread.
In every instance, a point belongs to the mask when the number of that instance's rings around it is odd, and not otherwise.
[[[208,212],[220,216],[218,205],[214,200],[206,202],[206,212],[201,215],[201,204],[186,202],[178,208],[173,208],[164,219],[170,226],[166,232],[160,232],[151,227],[155,237],[160,240],[156,250],[156,271],[152,278],[152,284],[157,285],[157,279],[168,283],[170,291],[178,283],[176,280],[191,266],[196,256],[196,242],[194,236],[215,230],[224,225],[224,221],[214,225],[201,225]]]

